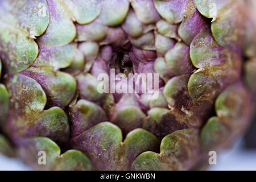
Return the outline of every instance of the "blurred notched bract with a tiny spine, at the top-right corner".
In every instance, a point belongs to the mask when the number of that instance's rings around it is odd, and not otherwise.
[[[201,14],[213,18],[212,34],[217,43],[241,53],[245,42],[245,2],[241,0],[196,0],[195,2]]]

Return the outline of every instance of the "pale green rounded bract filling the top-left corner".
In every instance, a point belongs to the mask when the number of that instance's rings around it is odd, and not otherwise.
[[[46,0],[1,1],[3,23],[26,32],[29,38],[40,36],[49,24],[49,12]]]

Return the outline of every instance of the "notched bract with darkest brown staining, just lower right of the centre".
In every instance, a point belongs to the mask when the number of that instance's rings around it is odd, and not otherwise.
[[[168,109],[153,108],[148,111],[143,128],[158,138],[190,127],[200,127],[200,113],[192,103],[187,90],[189,75],[171,78],[163,89],[163,96],[168,102]]]

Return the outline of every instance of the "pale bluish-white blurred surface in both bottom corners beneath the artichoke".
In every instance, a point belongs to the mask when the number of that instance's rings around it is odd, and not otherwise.
[[[0,170],[30,170],[18,159],[0,155]],[[242,150],[241,140],[229,151],[217,153],[217,164],[209,170],[256,170],[256,150]]]

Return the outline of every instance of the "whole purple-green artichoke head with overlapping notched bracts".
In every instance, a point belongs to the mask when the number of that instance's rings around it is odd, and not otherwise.
[[[250,7],[243,0],[0,1],[0,151],[46,170],[204,166],[209,151],[229,147],[251,121]],[[136,89],[128,75],[157,75],[158,97],[99,92],[98,77],[113,72],[120,77],[107,81],[109,90]]]

